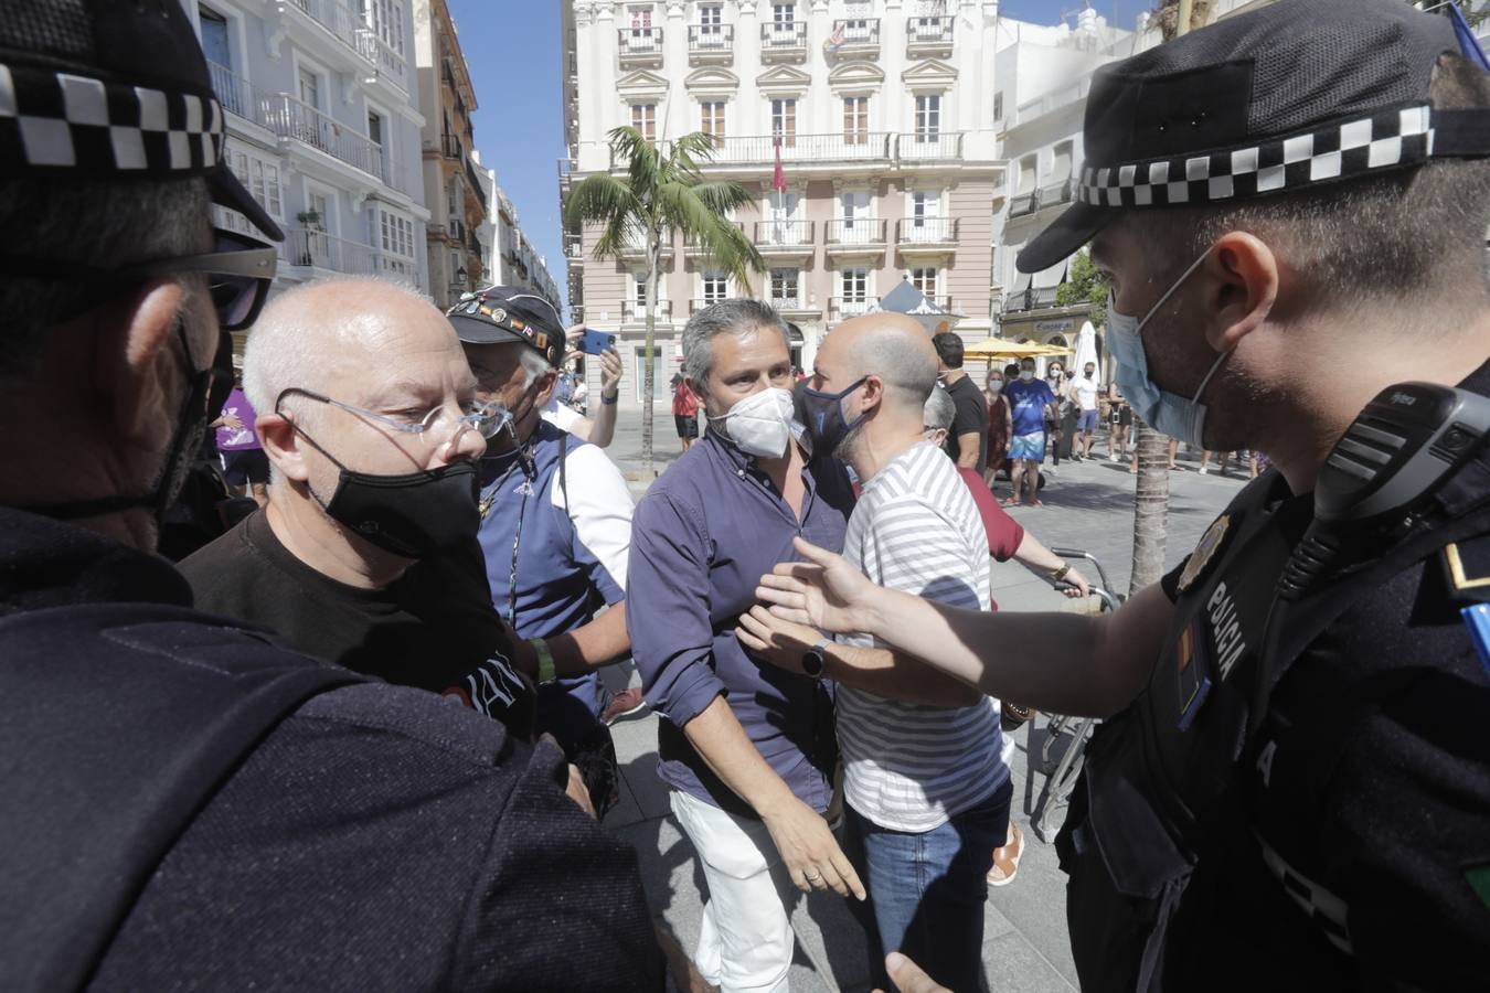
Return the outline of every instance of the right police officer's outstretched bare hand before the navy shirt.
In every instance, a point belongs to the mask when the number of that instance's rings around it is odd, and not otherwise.
[[[800,537],[796,539],[796,549],[806,561],[781,563],[761,576],[755,598],[793,624],[836,634],[873,631],[873,601],[879,587],[842,555]]]

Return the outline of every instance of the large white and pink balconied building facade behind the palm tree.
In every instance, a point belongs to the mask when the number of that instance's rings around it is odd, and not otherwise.
[[[796,331],[811,368],[821,338],[909,278],[985,338],[994,195],[1003,164],[994,115],[994,0],[562,0],[565,134],[560,201],[615,170],[608,132],[717,138],[703,171],[752,202],[736,223],[766,259],[749,293]],[[781,146],[787,192],[772,189]],[[577,319],[623,338],[641,400],[645,323],[639,250],[592,256],[599,228],[566,231]],[[697,246],[663,250],[654,393],[681,362],[690,313],[745,295]]]

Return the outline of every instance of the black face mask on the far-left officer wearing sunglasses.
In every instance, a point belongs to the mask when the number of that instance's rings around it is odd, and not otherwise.
[[[33,514],[45,514],[63,521],[73,521],[83,517],[98,517],[103,514],[118,514],[133,508],[150,508],[155,523],[165,520],[165,512],[176,503],[191,463],[201,450],[201,441],[207,435],[207,424],[218,420],[222,405],[232,390],[232,336],[228,332],[218,335],[218,353],[212,365],[198,371],[191,357],[191,344],[186,339],[186,325],[177,322],[176,333],[182,341],[182,353],[186,357],[186,374],[191,387],[186,399],[182,400],[180,412],[176,415],[176,433],[171,436],[170,448],[165,453],[165,463],[161,475],[148,493],[137,496],[112,496],[97,500],[73,500],[69,503],[45,503],[40,506],[21,508]],[[224,386],[225,384],[225,386]]]

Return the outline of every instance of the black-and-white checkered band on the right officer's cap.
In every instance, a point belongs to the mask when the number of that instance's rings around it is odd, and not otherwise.
[[[1429,110],[1383,110],[1240,149],[1085,167],[1077,199],[1095,207],[1210,204],[1416,165],[1433,153]]]

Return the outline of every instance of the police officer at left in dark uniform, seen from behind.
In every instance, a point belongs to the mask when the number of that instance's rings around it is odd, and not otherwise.
[[[557,747],[152,554],[274,274],[224,138],[179,0],[0,3],[0,989],[659,989]]]

